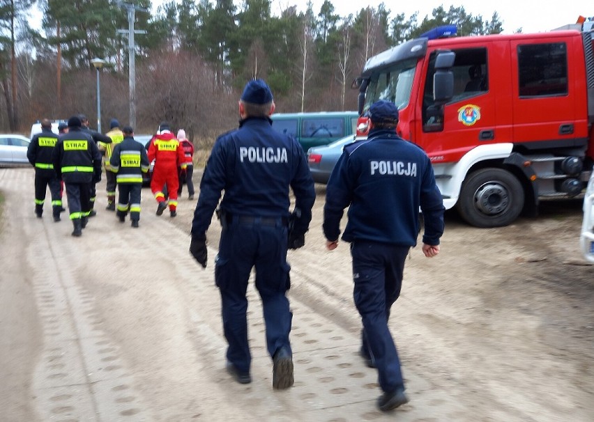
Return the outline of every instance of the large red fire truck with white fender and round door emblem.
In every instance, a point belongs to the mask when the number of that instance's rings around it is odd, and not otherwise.
[[[591,24],[546,33],[446,37],[442,26],[365,63],[358,136],[377,100],[429,155],[446,208],[507,226],[541,198],[581,194],[594,160]]]

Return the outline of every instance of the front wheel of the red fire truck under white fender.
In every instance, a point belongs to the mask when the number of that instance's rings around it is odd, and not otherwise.
[[[508,226],[524,208],[524,190],[515,175],[503,169],[470,173],[460,192],[457,209],[475,227]]]

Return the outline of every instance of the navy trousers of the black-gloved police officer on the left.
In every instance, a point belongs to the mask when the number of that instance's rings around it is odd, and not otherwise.
[[[248,279],[255,267],[255,286],[262,299],[266,345],[271,357],[281,347],[291,352],[289,332],[293,314],[286,292],[290,287],[287,263],[287,224],[282,219],[233,217],[224,224],[215,258],[215,282],[221,293],[227,359],[241,373],[249,373]]]

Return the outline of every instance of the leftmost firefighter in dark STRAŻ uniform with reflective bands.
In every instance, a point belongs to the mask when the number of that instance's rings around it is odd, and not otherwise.
[[[41,133],[31,138],[26,151],[27,159],[35,167],[35,214],[41,218],[45,191],[49,186],[54,221],[60,221],[60,212],[63,211],[60,180],[56,177],[54,164],[52,164],[52,153],[57,141],[58,135],[52,132],[52,122],[44,118],[41,120]]]

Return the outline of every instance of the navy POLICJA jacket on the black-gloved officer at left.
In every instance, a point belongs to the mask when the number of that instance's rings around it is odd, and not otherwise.
[[[192,235],[206,233],[222,190],[220,209],[227,214],[289,217],[289,186],[305,233],[316,193],[303,148],[275,131],[269,118],[242,120],[238,129],[215,141],[200,182]]]

